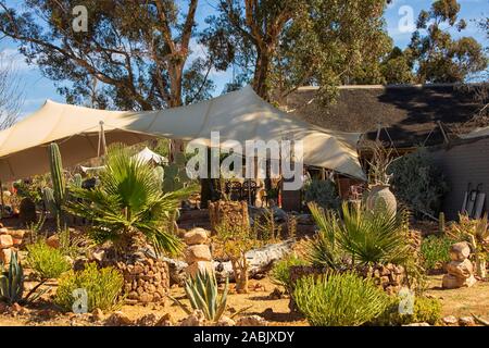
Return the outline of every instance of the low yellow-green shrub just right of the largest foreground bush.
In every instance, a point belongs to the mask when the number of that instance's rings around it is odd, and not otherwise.
[[[371,324],[376,326],[400,326],[412,323],[436,325],[441,318],[441,303],[437,299],[416,297],[413,314],[399,313],[399,297],[392,297],[386,311]]]

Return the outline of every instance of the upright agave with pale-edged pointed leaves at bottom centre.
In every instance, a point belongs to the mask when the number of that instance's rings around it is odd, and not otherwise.
[[[220,296],[215,274],[199,272],[185,282],[185,294],[193,310],[200,309],[206,320],[217,322],[226,309],[228,286],[229,282],[226,278],[224,291]]]

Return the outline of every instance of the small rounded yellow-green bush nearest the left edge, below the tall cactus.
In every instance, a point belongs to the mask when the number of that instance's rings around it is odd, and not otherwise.
[[[63,253],[51,248],[45,240],[39,240],[27,247],[27,262],[34,274],[41,281],[59,278],[71,269],[70,262]]]

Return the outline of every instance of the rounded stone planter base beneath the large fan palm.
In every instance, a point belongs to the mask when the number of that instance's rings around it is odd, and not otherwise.
[[[126,303],[162,302],[170,288],[168,264],[161,260],[147,258],[134,264],[117,262],[124,276]]]

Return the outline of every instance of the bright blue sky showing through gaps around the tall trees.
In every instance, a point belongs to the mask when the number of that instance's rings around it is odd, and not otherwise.
[[[22,1],[13,0],[8,1],[8,3],[9,2],[10,4],[22,3]],[[471,21],[487,17],[489,15],[489,0],[459,0],[459,2],[461,4],[460,17],[465,18],[468,26],[462,33],[453,30],[453,36],[474,36],[479,42],[482,42],[484,46],[489,46],[484,34],[478,30],[475,23]],[[419,11],[428,9],[430,3],[431,1],[428,0],[393,0],[388,7],[385,16],[387,29],[389,35],[393,38],[394,45],[404,48],[411,39],[411,33],[402,29],[402,25],[406,24],[404,18],[406,14],[409,15],[411,9],[415,21]],[[199,26],[204,24],[203,18],[214,12],[214,4],[215,0],[200,0],[197,12]],[[399,24],[401,24],[401,26]],[[195,46],[192,49],[195,51],[193,54],[203,54],[202,48]],[[22,115],[32,113],[40,108],[46,99],[61,102],[64,101],[63,97],[58,95],[57,88],[51,80],[43,77],[36,66],[28,66],[24,62],[23,57],[16,52],[16,47],[13,42],[9,40],[0,41],[0,51],[3,51],[4,54],[15,60],[17,73],[25,86],[25,101],[22,109]],[[230,80],[231,72],[213,72],[211,77],[216,85],[214,94],[220,95],[224,84]]]

